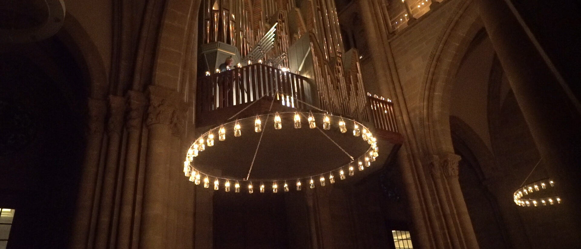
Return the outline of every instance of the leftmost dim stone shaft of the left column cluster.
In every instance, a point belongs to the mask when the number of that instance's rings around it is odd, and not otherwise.
[[[103,100],[89,98],[88,109],[87,148],[85,149],[85,160],[81,171],[77,208],[73,221],[73,235],[70,242],[70,248],[73,249],[87,248],[91,214],[94,211],[92,207],[95,182],[99,159],[101,158],[101,144],[103,142],[103,131],[105,130],[107,105]]]

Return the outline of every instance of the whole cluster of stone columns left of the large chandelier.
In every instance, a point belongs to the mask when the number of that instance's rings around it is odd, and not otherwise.
[[[71,248],[193,247],[194,188],[177,182],[187,103],[177,91],[155,86],[88,103]],[[180,215],[187,225],[177,221]],[[176,230],[171,243],[168,227]]]

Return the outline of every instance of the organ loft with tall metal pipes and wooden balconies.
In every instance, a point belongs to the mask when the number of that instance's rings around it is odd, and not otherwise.
[[[259,102],[239,118],[267,113],[275,98],[272,112],[324,109],[374,127],[389,145],[382,149],[389,158],[399,149],[403,137],[393,104],[365,90],[357,50],[343,50],[333,0],[204,0],[202,5],[200,131],[227,122],[254,101]],[[232,68],[220,72],[228,57],[234,59]]]

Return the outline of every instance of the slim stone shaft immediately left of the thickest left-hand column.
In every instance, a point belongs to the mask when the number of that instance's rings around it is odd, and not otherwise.
[[[141,130],[144,116],[145,97],[137,91],[129,91],[127,96],[127,150],[125,152],[125,169],[121,192],[121,209],[119,213],[119,230],[117,249],[130,248],[131,228],[134,215],[135,183],[141,144]]]

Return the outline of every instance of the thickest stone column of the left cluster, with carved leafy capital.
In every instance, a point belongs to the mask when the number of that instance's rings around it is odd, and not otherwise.
[[[171,168],[171,123],[174,119],[177,92],[149,87],[146,124],[148,145],[144,175],[139,248],[166,248],[169,170]]]

